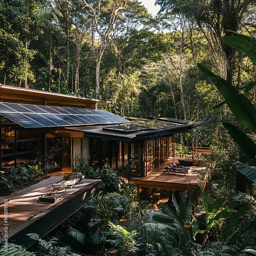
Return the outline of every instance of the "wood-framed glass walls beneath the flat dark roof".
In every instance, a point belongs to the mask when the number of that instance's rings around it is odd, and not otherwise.
[[[173,156],[173,136],[131,143],[90,139],[90,164],[95,169],[106,164],[129,176],[147,176]]]

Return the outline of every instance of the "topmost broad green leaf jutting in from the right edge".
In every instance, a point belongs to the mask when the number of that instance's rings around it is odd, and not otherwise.
[[[246,35],[224,36],[223,40],[240,52],[247,55],[256,66],[256,39]]]

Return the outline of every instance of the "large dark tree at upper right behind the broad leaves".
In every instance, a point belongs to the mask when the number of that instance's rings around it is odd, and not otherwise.
[[[228,30],[238,31],[249,8],[255,0],[156,0],[161,6],[160,12],[169,10],[195,19],[207,39],[217,64],[218,74],[232,82],[235,69],[235,51],[223,40],[223,35],[230,35]],[[225,70],[223,72],[223,65]]]

